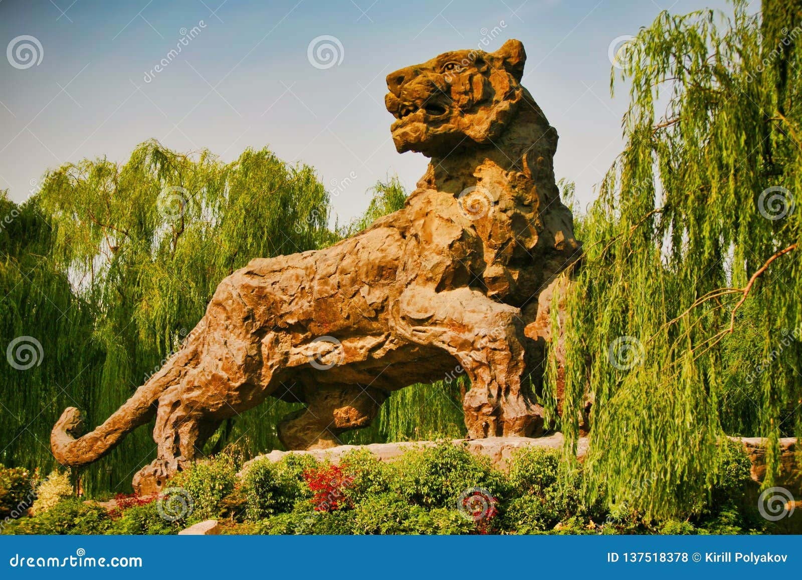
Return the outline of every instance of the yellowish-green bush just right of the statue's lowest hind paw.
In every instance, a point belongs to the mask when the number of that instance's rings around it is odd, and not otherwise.
[[[178,473],[164,489],[179,488],[188,494],[192,501],[192,513],[187,513],[186,522],[193,524],[218,517],[221,501],[234,491],[238,481],[237,464],[233,457],[221,454]]]

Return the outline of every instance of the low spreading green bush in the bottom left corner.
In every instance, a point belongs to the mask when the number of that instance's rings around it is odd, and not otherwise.
[[[12,522],[4,533],[10,534],[103,534],[112,527],[105,509],[85,504],[73,497],[59,501],[47,512]]]

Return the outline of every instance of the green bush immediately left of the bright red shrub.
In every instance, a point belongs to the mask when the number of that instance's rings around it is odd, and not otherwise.
[[[245,474],[248,519],[258,521],[289,512],[299,499],[312,497],[303,473],[316,464],[310,456],[290,453],[277,463],[265,459],[250,465]]]

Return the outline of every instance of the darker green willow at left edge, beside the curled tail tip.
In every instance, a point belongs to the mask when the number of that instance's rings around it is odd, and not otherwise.
[[[35,202],[0,192],[0,464],[55,460],[47,423],[91,398],[103,353],[91,340],[95,310],[47,259],[52,230]]]

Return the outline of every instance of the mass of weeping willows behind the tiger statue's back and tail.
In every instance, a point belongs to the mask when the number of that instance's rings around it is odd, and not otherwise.
[[[0,440],[6,464],[30,467],[52,464],[48,433],[63,407],[103,422],[180,347],[234,269],[335,239],[314,171],[267,149],[223,164],[150,141],[122,166],[63,165],[10,211],[21,215],[3,248],[3,344],[30,335],[43,363],[4,368]],[[209,451],[237,439],[273,448],[274,426],[291,410],[276,401],[229,421]],[[137,430],[81,474],[84,489],[127,488],[154,450],[149,430]]]

